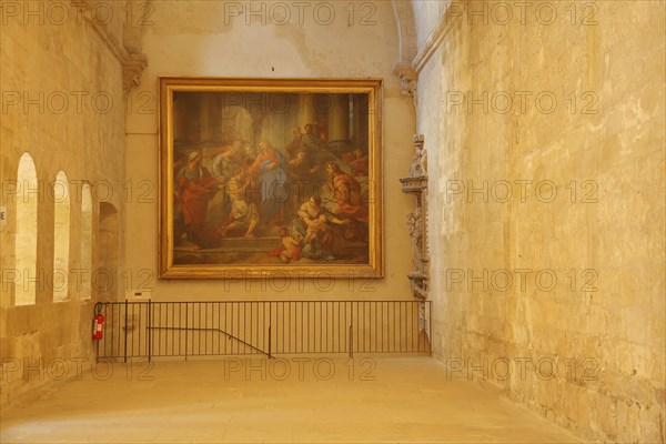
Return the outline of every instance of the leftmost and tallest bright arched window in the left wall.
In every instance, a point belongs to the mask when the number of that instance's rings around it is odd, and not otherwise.
[[[19,161],[17,183],[17,233],[14,258],[17,280],[14,284],[16,305],[34,304],[38,285],[37,276],[37,202],[39,186],[37,169],[32,157],[27,152]]]

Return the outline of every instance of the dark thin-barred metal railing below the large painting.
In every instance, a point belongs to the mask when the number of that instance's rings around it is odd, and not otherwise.
[[[98,302],[100,359],[431,353],[430,301]]]

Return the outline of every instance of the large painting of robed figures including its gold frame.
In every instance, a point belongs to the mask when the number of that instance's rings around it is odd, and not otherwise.
[[[382,278],[382,81],[162,77],[160,278]]]

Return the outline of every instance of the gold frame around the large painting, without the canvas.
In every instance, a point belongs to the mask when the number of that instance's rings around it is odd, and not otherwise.
[[[174,264],[173,223],[173,93],[266,92],[266,93],[366,93],[369,94],[369,202],[367,264]],[[383,178],[382,178],[382,80],[381,79],[246,79],[246,78],[159,78],[160,279],[265,279],[281,278],[383,278]]]

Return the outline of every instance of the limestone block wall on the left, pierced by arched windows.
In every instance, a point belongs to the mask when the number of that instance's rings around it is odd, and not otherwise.
[[[36,386],[75,377],[79,365],[87,371],[92,363],[92,306],[108,286],[108,274],[95,280],[93,273],[100,262],[109,263],[108,258],[122,258],[122,228],[105,223],[117,242],[104,249],[98,248],[97,232],[101,204],[112,209],[110,213],[124,211],[119,192],[124,175],[122,70],[111,49],[111,43],[122,42],[124,16],[119,2],[93,2],[93,16],[89,11],[88,18],[70,2],[2,3],[0,206],[6,220],[0,225],[0,386],[4,403]],[[93,29],[93,21],[105,39]],[[37,200],[32,253],[16,243],[17,229],[28,223],[17,219],[28,185],[18,181],[24,153],[32,158],[37,174],[29,193]],[[53,302],[54,204],[59,201],[53,184],[59,171],[68,179],[70,243],[69,263],[58,265],[56,274],[64,274],[69,285],[67,299]],[[17,306],[16,286],[23,282],[14,283],[16,272],[26,272],[18,264],[29,254],[37,259],[26,285],[34,289],[36,301]]]

